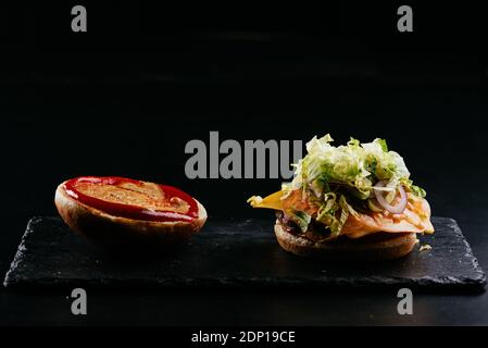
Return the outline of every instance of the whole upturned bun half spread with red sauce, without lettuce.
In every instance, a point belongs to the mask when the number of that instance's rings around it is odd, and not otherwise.
[[[123,177],[66,181],[58,186],[54,202],[73,231],[109,247],[175,246],[207,221],[203,206],[184,191]]]

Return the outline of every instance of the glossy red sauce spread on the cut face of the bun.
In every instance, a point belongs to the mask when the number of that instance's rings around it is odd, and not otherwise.
[[[145,185],[153,185],[162,189],[163,197],[161,199],[151,198],[150,195],[153,192],[149,192],[149,195],[146,195],[146,192],[143,191],[136,191],[135,194],[142,198],[147,198],[147,201],[150,201],[153,206],[155,204],[155,207],[160,207],[160,209],[148,209],[147,207],[142,207],[145,206],[143,203],[127,204],[113,200],[111,201],[84,192],[80,189],[82,187],[86,188],[90,187],[91,185],[101,185],[109,190],[111,187],[108,186],[115,186],[113,188],[115,190],[118,190],[118,192],[128,192],[128,195],[130,195],[130,189],[125,189],[124,187],[121,188],[122,185],[127,184],[135,185],[135,188],[140,187],[141,189],[146,187]],[[101,210],[114,216],[157,222],[189,222],[198,217],[198,206],[196,200],[180,189],[167,185],[145,183],[118,176],[82,176],[67,181],[64,185],[64,188],[70,197],[78,200],[84,204]],[[100,187],[92,188],[99,189]],[[101,191],[103,191],[103,189],[104,188],[101,188]],[[148,189],[151,189],[151,187],[149,187]],[[154,191],[154,189],[152,190]],[[107,195],[110,195],[110,192]],[[121,200],[121,198],[115,198],[115,200],[116,199]],[[179,202],[179,204],[177,203],[175,207],[173,207],[172,202]]]

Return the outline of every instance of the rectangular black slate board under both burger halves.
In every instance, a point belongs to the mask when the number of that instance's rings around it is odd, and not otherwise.
[[[149,259],[114,257],[58,217],[33,217],[7,287],[313,286],[483,289],[486,276],[456,222],[434,217],[433,249],[381,263],[343,264],[296,257],[276,243],[272,220],[210,219],[182,250]],[[421,243],[422,244],[422,243]]]

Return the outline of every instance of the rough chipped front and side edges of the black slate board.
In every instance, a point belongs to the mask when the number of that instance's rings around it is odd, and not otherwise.
[[[33,233],[34,228],[32,227],[39,221],[41,221],[45,216],[33,216],[26,226],[26,231],[21,239],[21,243],[18,245],[17,251],[14,256],[14,259],[11,262],[9,271],[5,273],[5,277],[3,281],[3,286],[9,288],[28,288],[30,286],[40,286],[40,287],[57,287],[57,286],[72,286],[72,285],[87,285],[87,286],[112,286],[116,287],[116,283],[120,283],[118,286],[124,285],[124,281],[117,282],[115,278],[105,278],[105,279],[93,279],[93,281],[87,281],[87,279],[74,279],[74,278],[58,278],[52,279],[49,278],[49,281],[43,281],[40,278],[34,278],[32,281],[25,281],[16,278],[15,272],[21,263],[21,261],[24,259],[24,251],[26,250],[25,243],[28,236]],[[441,217],[441,216],[437,216]],[[433,277],[422,277],[422,278],[403,278],[403,277],[384,277],[384,276],[373,276],[373,277],[365,277],[361,281],[349,281],[348,278],[341,278],[341,277],[317,277],[314,279],[308,278],[309,284],[306,286],[313,285],[313,286],[320,286],[323,288],[349,288],[351,286],[360,287],[360,288],[370,288],[370,287],[377,287],[377,288],[387,288],[387,287],[411,287],[411,288],[422,288],[422,287],[429,287],[433,289],[436,288],[449,288],[449,289],[474,289],[474,290],[485,290],[485,286],[487,284],[486,274],[484,273],[483,269],[480,268],[477,258],[474,256],[473,250],[465,239],[464,235],[462,234],[461,227],[459,226],[458,222],[451,217],[441,217],[445,220],[449,220],[452,224],[452,227],[454,232],[463,237],[463,244],[466,248],[467,254],[472,257],[472,263],[473,268],[475,269],[478,276],[476,277],[446,277],[446,278],[433,278]],[[293,287],[293,286],[302,286],[300,278],[287,278],[281,277],[277,278],[275,281],[266,282],[267,278],[225,278],[222,277],[220,279],[209,279],[209,278],[191,278],[187,279],[184,277],[173,277],[173,278],[166,278],[164,282],[154,281],[154,279],[132,279],[132,287],[137,286],[160,286],[160,287],[185,287],[185,286],[209,286],[209,287],[215,287],[215,286],[229,286],[229,287],[253,287],[255,285],[261,285],[262,287]],[[312,281],[312,282],[311,282]],[[448,282],[446,282],[448,281]],[[379,282],[379,284],[378,284]],[[263,285],[264,284],[264,285]],[[303,287],[303,286],[302,286]]]

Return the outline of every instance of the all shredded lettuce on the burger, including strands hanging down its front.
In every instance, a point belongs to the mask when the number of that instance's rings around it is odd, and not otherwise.
[[[387,200],[395,198],[398,185],[425,197],[425,190],[410,179],[403,158],[390,151],[385,139],[361,144],[351,138],[347,145],[338,147],[330,145],[333,141],[328,134],[311,139],[306,144],[308,154],[293,164],[293,181],[281,187],[284,197],[301,189],[303,197],[320,207],[313,217],[328,226],[333,236],[340,234],[349,214],[356,213],[355,202],[367,202],[374,197],[373,187],[379,181],[386,183],[381,189],[388,191]],[[289,213],[301,231],[306,231],[312,217],[297,211]]]

